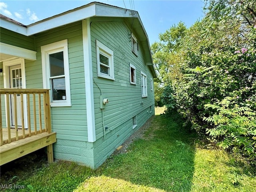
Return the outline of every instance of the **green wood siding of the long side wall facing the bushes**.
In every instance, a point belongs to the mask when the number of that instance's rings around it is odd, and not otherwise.
[[[134,35],[136,37],[136,34]],[[114,51],[115,80],[97,77],[96,40]],[[150,106],[154,107],[154,91],[150,90],[152,74],[145,64],[140,40],[138,38],[137,40],[139,44],[138,56],[132,53],[131,32],[124,22],[91,23],[94,80],[102,89],[103,96],[109,100],[109,104],[104,109],[105,126],[109,128],[106,133],[110,132],[110,129],[113,130],[132,119],[133,116],[147,111]],[[130,84],[129,63],[136,67],[136,85]],[[146,98],[141,96],[141,71],[147,75],[148,96]],[[96,139],[103,136],[102,110],[99,108],[99,95],[100,90],[94,84]],[[139,117],[137,117],[137,121],[139,121]]]

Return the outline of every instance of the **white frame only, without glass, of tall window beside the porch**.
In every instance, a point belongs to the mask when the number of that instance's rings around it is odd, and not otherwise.
[[[64,77],[66,86],[66,100],[53,100],[52,98],[52,86],[50,80],[50,61],[49,54],[63,51],[64,57]],[[64,107],[71,106],[71,94],[70,94],[70,75],[69,75],[69,61],[68,61],[68,40],[62,40],[55,43],[41,46],[42,54],[42,73],[43,73],[43,87],[44,89],[50,89],[50,106],[51,107]]]

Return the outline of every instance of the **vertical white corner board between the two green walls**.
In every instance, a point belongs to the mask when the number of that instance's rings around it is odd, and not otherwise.
[[[82,20],[88,142],[96,141],[90,20]]]

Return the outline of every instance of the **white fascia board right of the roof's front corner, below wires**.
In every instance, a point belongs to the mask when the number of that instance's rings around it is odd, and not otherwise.
[[[127,10],[124,8],[108,6],[106,4],[96,3],[96,16],[101,17],[138,17],[137,11]]]

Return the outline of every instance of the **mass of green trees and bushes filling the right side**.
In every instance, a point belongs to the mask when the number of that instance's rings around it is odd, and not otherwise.
[[[256,1],[208,0],[205,10],[201,21],[172,26],[154,45],[167,111],[176,106],[200,135],[254,164],[254,132],[246,126],[255,126]],[[218,102],[228,106],[220,110]]]

